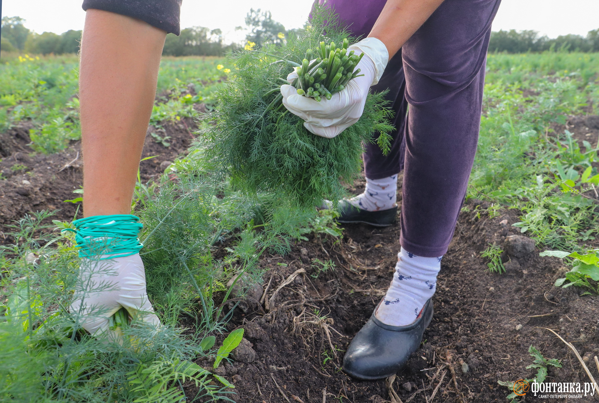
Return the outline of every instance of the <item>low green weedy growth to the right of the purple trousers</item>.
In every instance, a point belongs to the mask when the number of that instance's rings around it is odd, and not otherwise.
[[[552,128],[594,99],[597,62],[597,53],[488,58],[468,196],[521,210],[514,225],[550,248],[575,249],[596,233],[595,205],[583,193],[597,181],[597,150]]]

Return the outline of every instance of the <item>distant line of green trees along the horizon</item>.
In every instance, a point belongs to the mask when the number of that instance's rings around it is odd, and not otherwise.
[[[168,56],[222,56],[242,47],[253,49],[269,43],[281,43],[289,31],[282,23],[273,20],[270,11],[250,9],[246,16],[246,26],[238,26],[236,30],[246,31],[244,44],[226,43],[220,29],[209,29],[194,26],[181,29],[176,36],[168,34],[164,44],[163,55]],[[77,53],[81,41],[81,31],[69,29],[62,34],[43,32],[37,34],[25,27],[25,20],[20,17],[4,17],[2,19],[2,37],[0,51],[28,52],[48,55],[53,53]],[[539,35],[538,31],[524,30],[491,32],[489,52],[525,53],[525,52],[599,52],[599,29],[582,35],[560,35],[548,38]]]

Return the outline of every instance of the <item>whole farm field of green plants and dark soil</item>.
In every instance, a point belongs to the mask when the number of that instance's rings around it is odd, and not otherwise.
[[[80,213],[77,58],[3,55],[2,399],[506,401],[513,381],[539,371],[527,368],[531,345],[559,360],[540,365],[547,379],[588,382],[544,328],[599,377],[597,261],[566,275],[580,260],[540,256],[599,248],[599,54],[489,55],[479,151],[434,320],[404,371],[371,382],[344,375],[341,359],[388,287],[400,228],[340,228],[328,210],[297,216],[211,181],[188,148],[228,68],[220,58],[162,62],[133,208],[149,294],[168,326],[131,327],[125,344],[106,345],[66,315],[76,252],[71,235],[54,231]],[[561,278],[574,285],[556,287]],[[235,329],[243,341],[214,369]]]

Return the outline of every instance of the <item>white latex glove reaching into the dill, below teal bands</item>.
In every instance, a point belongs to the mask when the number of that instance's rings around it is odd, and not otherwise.
[[[71,313],[79,315],[84,329],[92,335],[110,335],[108,318],[121,307],[127,309],[130,317],[139,314],[143,321],[160,326],[147,298],[146,272],[140,255],[108,260],[82,258]]]

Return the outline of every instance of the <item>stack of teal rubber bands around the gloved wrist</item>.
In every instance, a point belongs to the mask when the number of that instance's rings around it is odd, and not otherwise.
[[[93,215],[75,219],[75,242],[79,257],[106,260],[138,253],[143,243],[137,237],[143,224],[140,218],[131,214]],[[110,255],[100,258],[100,255]]]

